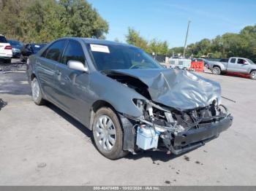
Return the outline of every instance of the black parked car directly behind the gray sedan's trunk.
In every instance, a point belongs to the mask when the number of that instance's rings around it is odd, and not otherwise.
[[[46,43],[29,43],[26,44],[21,50],[20,61],[26,62],[30,55],[36,54],[42,47],[45,47]]]

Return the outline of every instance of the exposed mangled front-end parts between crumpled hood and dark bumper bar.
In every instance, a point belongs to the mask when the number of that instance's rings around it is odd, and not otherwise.
[[[211,124],[217,124],[226,117],[230,117],[227,108],[223,105],[217,105],[214,101],[210,106],[205,108],[193,109],[186,112],[180,112],[175,109],[168,109],[165,106],[158,106],[149,101],[148,103],[141,100],[135,100],[137,106],[142,109],[143,116],[138,119],[140,127],[153,128],[159,134],[159,145],[165,147],[171,152],[178,154],[177,149],[182,149],[189,144],[197,141],[206,141],[211,137],[201,140],[196,137],[188,140],[191,132],[201,130]],[[181,138],[177,144],[176,137]],[[218,135],[216,135],[218,136]],[[162,145],[161,145],[162,144]],[[178,147],[176,147],[178,146]]]

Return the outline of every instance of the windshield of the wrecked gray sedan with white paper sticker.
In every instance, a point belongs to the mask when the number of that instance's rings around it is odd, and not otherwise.
[[[138,47],[116,44],[86,44],[97,70],[162,69],[150,55]]]

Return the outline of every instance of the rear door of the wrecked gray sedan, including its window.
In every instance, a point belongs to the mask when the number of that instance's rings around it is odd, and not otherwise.
[[[54,102],[56,102],[56,87],[53,77],[56,75],[56,65],[61,59],[66,43],[66,39],[53,42],[36,61],[37,77],[42,91],[50,101]]]

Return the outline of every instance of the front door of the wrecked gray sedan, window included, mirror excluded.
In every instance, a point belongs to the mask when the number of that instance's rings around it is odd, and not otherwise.
[[[80,61],[86,64],[86,57],[80,42],[70,39],[62,55],[61,63],[56,66],[55,83],[57,99],[61,106],[78,118],[87,122],[89,117],[89,73],[69,69],[68,61]]]

